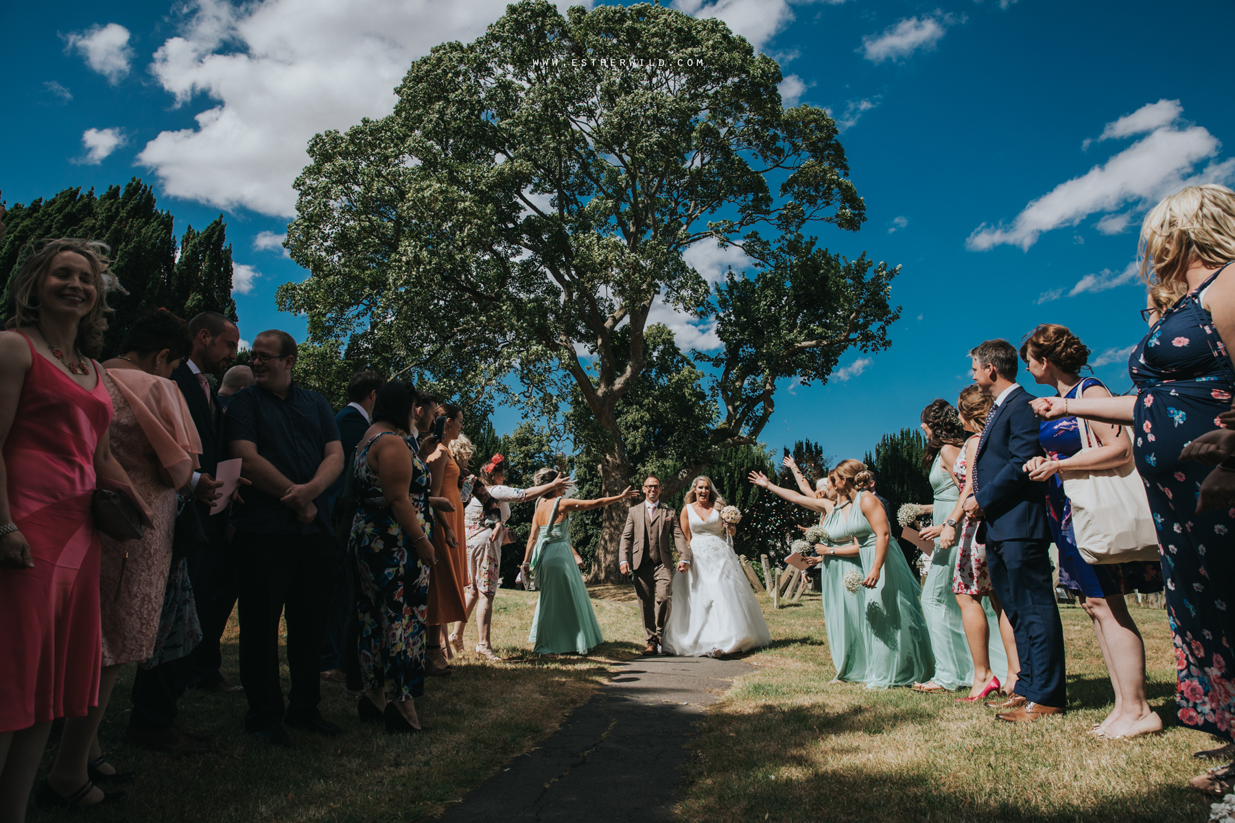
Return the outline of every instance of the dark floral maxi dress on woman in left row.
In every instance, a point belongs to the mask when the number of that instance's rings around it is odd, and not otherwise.
[[[364,689],[385,689],[387,697],[403,701],[425,693],[425,617],[429,610],[429,566],[420,561],[394,511],[385,501],[377,474],[369,468],[369,447],[356,458],[359,506],[352,521],[347,550],[359,570],[357,608],[361,621],[359,656]],[[429,466],[416,454],[411,438],[401,438],[411,452],[411,487],[416,518],[431,534]]]

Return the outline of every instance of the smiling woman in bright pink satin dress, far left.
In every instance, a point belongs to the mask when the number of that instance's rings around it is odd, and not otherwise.
[[[105,292],[115,284],[107,250],[47,241],[9,280],[0,333],[2,823],[26,818],[52,721],[86,717],[99,702],[99,533],[90,505],[96,476],[132,485],[111,452],[111,397],[91,359],[103,348]],[[41,804],[125,800],[89,780],[88,750],[47,776]]]

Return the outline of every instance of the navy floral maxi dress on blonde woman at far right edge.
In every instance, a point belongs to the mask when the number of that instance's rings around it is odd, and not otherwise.
[[[1200,289],[1184,295],[1132,350],[1128,370],[1137,397],[1132,452],[1145,480],[1158,529],[1167,616],[1174,638],[1176,703],[1184,726],[1231,739],[1235,663],[1231,606],[1235,510],[1195,513],[1202,481],[1212,466],[1179,460],[1179,450],[1219,427],[1230,408],[1235,369]],[[1228,275],[1231,276],[1231,275]]]

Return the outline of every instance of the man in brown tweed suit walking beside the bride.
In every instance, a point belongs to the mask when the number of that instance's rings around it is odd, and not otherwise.
[[[635,571],[635,595],[643,610],[643,654],[656,654],[669,617],[673,585],[673,545],[682,556],[678,571],[690,565],[690,547],[682,534],[677,512],[661,502],[661,481],[648,475],[643,481],[646,500],[635,503],[626,513],[626,527],[618,547],[619,569]],[[672,543],[671,543],[672,540]]]

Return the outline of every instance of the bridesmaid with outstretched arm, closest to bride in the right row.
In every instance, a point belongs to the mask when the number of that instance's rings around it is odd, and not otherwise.
[[[793,458],[787,457],[784,465],[793,471],[794,478],[798,480],[798,487],[805,492],[809,486],[805,478],[802,478]],[[758,478],[762,478],[762,481],[757,480],[756,485],[789,500],[789,497],[781,494],[784,490],[767,481],[764,475],[761,474]],[[810,511],[820,512],[819,522],[829,532],[834,529],[839,531],[835,521],[844,517],[852,503],[848,501],[840,506],[836,503],[836,486],[832,485],[830,476],[820,478],[816,485],[819,489],[814,492],[815,496],[811,497],[811,505],[798,500],[794,500],[794,502]],[[815,554],[818,556],[806,558],[806,563],[810,565],[820,566],[819,587],[823,592],[824,629],[827,632],[827,650],[832,655],[832,665],[836,666],[835,680],[852,682],[863,682],[866,680],[866,645],[862,631],[862,624],[866,622],[863,616],[866,598],[862,592],[850,593],[845,590],[845,575],[850,571],[856,571],[858,575],[866,576],[862,571],[862,560],[858,558],[858,552],[857,540],[850,540],[847,544],[837,544],[829,538],[824,543],[815,544]]]

